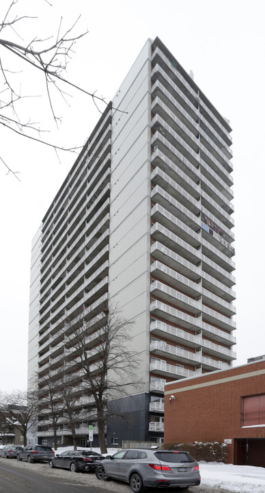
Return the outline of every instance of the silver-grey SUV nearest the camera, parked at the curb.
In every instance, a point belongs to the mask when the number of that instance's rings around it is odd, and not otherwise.
[[[189,488],[201,482],[199,464],[188,452],[162,449],[126,448],[100,461],[96,477],[119,479],[130,484],[134,493],[145,487]]]

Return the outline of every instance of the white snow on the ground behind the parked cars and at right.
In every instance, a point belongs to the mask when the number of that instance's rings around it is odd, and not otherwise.
[[[71,447],[60,447],[55,453],[70,449]],[[81,450],[82,447],[78,449]],[[92,447],[92,450],[100,453],[100,448]],[[113,455],[119,450],[120,448],[108,448],[108,455]],[[223,462],[199,462],[199,470],[203,486],[219,487],[240,493],[265,493],[265,468],[234,466]]]

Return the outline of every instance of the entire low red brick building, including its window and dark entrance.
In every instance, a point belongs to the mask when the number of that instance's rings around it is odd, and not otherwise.
[[[225,442],[228,462],[265,467],[265,359],[166,383],[164,441]]]

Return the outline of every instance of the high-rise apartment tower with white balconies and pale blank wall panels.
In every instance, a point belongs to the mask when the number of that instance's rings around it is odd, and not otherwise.
[[[134,320],[143,382],[116,403],[128,420],[107,423],[107,446],[122,446],[163,441],[165,382],[236,358],[232,140],[158,38],[145,43],[112,105],[33,240],[29,379],[37,372],[45,390],[58,378],[66,316],[115,300]],[[79,405],[93,402],[81,396]],[[47,422],[39,425],[39,442],[51,443]],[[79,445],[88,425],[76,429]],[[64,443],[66,428],[57,431]],[[94,422],[94,445],[96,432]]]

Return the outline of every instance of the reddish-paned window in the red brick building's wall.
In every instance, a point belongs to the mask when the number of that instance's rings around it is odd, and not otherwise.
[[[265,426],[265,394],[242,397],[241,426]]]

